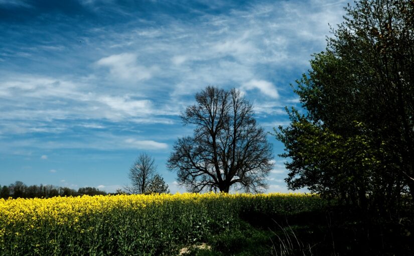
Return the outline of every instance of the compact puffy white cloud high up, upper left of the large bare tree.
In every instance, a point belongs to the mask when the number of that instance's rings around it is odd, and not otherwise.
[[[96,62],[98,66],[109,68],[111,76],[124,80],[148,80],[158,70],[156,66],[147,68],[137,63],[137,56],[132,53],[121,53],[102,58]]]

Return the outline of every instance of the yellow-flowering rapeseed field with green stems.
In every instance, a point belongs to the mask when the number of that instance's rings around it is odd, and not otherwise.
[[[161,194],[0,199],[0,255],[177,255],[237,228],[245,212],[293,214],[305,194]]]

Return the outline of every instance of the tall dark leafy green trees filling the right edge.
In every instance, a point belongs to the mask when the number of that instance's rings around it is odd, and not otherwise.
[[[361,0],[346,11],[298,81],[306,115],[292,112],[276,132],[292,160],[287,182],[391,206],[406,191],[414,199],[414,2]]]

